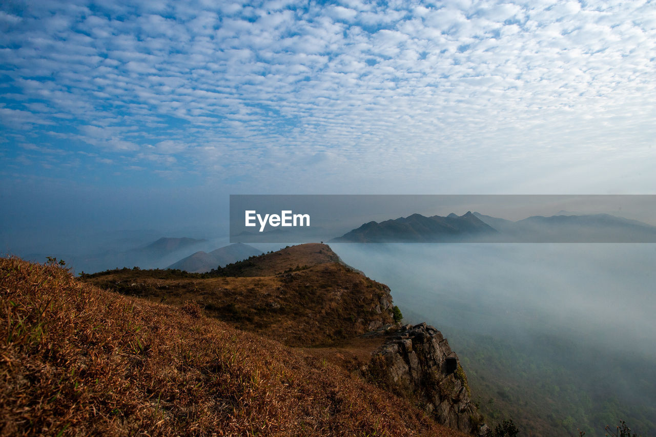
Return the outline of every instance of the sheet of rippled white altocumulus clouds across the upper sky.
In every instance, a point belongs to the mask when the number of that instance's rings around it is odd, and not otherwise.
[[[436,168],[495,180],[495,163],[512,190],[513,163],[548,177],[570,154],[655,136],[651,3],[36,1],[0,23],[8,134],[115,165],[285,174],[249,161],[268,156],[308,180],[341,166],[362,183],[397,175],[392,187],[407,163],[436,184]]]

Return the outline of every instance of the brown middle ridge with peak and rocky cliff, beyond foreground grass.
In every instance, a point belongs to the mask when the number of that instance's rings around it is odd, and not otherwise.
[[[474,432],[482,422],[440,331],[395,323],[390,288],[344,264],[328,245],[286,247],[206,274],[124,268],[83,280],[178,308],[196,304],[209,318],[299,348],[321,367],[337,365],[459,431]]]

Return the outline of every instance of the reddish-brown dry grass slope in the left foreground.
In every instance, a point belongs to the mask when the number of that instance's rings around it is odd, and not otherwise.
[[[0,259],[3,435],[462,436],[275,341]]]

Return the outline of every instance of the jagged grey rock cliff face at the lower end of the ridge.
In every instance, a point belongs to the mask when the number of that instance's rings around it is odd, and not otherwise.
[[[447,339],[434,327],[400,327],[373,352],[367,373],[373,383],[414,400],[439,423],[478,432],[482,417],[470,399],[467,377]]]

